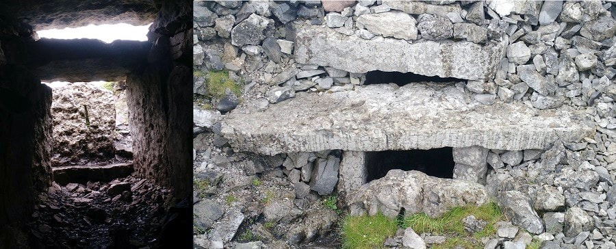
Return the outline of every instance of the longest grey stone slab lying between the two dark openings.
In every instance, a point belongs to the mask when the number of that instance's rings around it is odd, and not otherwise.
[[[555,140],[578,141],[594,132],[582,110],[481,105],[443,83],[378,84],[322,95],[300,92],[264,112],[246,106],[228,114],[222,134],[239,150],[266,155],[474,145],[545,149]]]

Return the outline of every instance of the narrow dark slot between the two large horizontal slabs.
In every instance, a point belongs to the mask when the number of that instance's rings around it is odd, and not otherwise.
[[[398,86],[404,86],[407,83],[415,82],[457,82],[465,81],[457,78],[441,78],[438,76],[416,75],[414,73],[400,72],[383,72],[370,71],[365,74],[364,85],[381,84],[381,83],[396,83]]]

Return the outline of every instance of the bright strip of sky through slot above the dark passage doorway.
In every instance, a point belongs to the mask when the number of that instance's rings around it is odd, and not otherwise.
[[[47,29],[36,31],[40,38],[52,39],[99,39],[103,42],[113,42],[114,40],[148,40],[149,25],[133,26],[126,23],[88,25],[76,28]]]

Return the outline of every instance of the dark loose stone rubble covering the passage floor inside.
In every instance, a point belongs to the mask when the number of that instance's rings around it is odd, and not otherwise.
[[[38,248],[158,246],[170,192],[132,176],[109,183],[54,183],[40,195],[29,224]]]

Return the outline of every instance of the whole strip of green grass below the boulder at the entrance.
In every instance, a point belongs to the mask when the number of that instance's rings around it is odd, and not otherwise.
[[[477,233],[465,231],[462,220],[468,215],[487,222],[485,228]],[[431,233],[447,237],[444,243],[435,244],[433,248],[483,248],[480,238],[495,234],[496,222],[504,218],[494,202],[479,207],[454,207],[438,218],[430,218],[425,213],[399,217],[398,220],[387,218],[381,213],[374,216],[347,215],[342,224],[342,244],[344,248],[383,248],[385,239],[393,237],[398,228],[411,227],[418,234]]]

